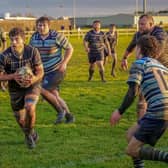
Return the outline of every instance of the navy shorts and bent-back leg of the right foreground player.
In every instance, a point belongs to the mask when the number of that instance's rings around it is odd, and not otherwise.
[[[168,121],[143,117],[139,125],[140,127],[129,142],[127,154],[138,159],[168,163],[168,152],[152,147],[167,129]],[[144,144],[150,146],[144,146]]]

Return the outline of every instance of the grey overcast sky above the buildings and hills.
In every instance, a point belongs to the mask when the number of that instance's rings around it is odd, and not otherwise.
[[[143,0],[0,0],[0,13],[31,13],[35,16],[100,16],[133,13]],[[147,11],[168,10],[168,0],[146,0]]]

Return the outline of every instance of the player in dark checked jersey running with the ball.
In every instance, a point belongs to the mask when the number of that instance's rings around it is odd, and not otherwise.
[[[29,148],[34,148],[38,139],[34,130],[36,121],[36,104],[40,95],[40,81],[43,77],[43,66],[40,54],[32,46],[25,45],[25,34],[21,28],[9,32],[10,47],[0,54],[0,81],[8,81],[12,110],[21,127]],[[22,78],[17,70],[23,66],[32,69],[34,75],[29,79]],[[22,81],[26,87],[21,87]]]

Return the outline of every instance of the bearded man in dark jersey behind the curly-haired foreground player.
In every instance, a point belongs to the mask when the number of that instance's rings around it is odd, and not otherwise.
[[[136,43],[138,39],[143,36],[144,34],[148,34],[151,36],[156,37],[158,40],[158,45],[160,45],[161,50],[164,50],[161,54],[160,61],[163,65],[168,67],[168,35],[167,33],[158,26],[154,25],[154,19],[151,15],[144,14],[139,17],[139,31],[134,34],[132,41],[128,45],[122,59],[122,68],[128,69],[127,59],[129,55],[132,53],[132,51],[136,48]],[[136,51],[136,55],[138,55],[138,52]],[[146,101],[142,94],[139,94],[139,101],[137,104],[137,113],[138,118],[141,118],[144,115],[144,112],[146,111]]]

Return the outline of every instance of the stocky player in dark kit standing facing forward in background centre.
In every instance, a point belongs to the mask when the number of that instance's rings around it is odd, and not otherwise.
[[[106,82],[104,76],[104,65],[103,65],[104,49],[106,45],[108,47],[108,51],[110,52],[110,46],[107,41],[105,33],[101,31],[101,22],[99,20],[93,21],[92,27],[93,29],[87,32],[83,40],[85,51],[88,54],[90,64],[88,81],[92,79],[95,70],[95,65],[97,65],[101,81]]]

